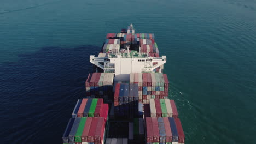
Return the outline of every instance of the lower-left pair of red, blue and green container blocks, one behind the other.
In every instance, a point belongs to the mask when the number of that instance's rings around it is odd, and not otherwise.
[[[103,104],[103,99],[79,99],[62,136],[63,143],[104,143],[107,119],[108,104]]]

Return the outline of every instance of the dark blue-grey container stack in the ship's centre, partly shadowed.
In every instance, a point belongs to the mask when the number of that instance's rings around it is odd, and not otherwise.
[[[115,116],[138,117],[138,111],[138,84],[117,83],[114,93]]]

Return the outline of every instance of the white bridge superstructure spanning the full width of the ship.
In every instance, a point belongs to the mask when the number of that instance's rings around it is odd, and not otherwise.
[[[134,33],[132,24],[130,27]],[[90,62],[102,69],[104,73],[114,73],[114,81],[129,81],[130,73],[154,73],[154,69],[163,68],[164,63],[166,63],[166,56],[151,57],[149,53],[137,51],[130,53],[129,46],[123,47],[123,49],[119,47],[120,51],[118,52],[111,51],[111,48],[109,47],[108,53],[100,53],[98,57],[91,55]],[[139,46],[140,50],[141,47]],[[161,73],[161,70],[158,73]]]

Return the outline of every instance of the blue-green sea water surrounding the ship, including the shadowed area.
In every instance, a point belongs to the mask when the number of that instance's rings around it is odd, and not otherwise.
[[[255,0],[0,1],[1,143],[61,143],[106,33],[154,33],[185,143],[256,142]]]

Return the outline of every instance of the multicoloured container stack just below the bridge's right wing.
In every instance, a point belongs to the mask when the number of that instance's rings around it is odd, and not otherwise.
[[[169,81],[162,73],[131,73],[130,83],[138,83],[139,101],[148,104],[149,99],[168,98]]]

